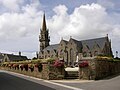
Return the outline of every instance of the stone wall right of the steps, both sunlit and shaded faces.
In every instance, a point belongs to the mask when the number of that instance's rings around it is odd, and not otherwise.
[[[88,66],[79,67],[79,79],[96,80],[120,73],[120,61],[87,59]]]

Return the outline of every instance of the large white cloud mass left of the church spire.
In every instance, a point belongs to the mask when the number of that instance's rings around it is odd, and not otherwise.
[[[38,4],[40,5],[36,0],[22,6],[19,13],[5,12],[0,15],[1,50],[22,51],[30,58],[33,56],[30,56],[31,52],[38,51],[38,35],[43,15],[42,11],[38,11]]]

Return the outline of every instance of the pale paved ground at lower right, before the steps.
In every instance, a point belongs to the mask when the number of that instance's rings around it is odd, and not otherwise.
[[[83,90],[120,90],[120,75],[111,79],[98,80],[98,81],[70,80],[68,82],[66,80],[64,81],[53,80],[53,82],[76,87],[76,88],[81,88]]]

